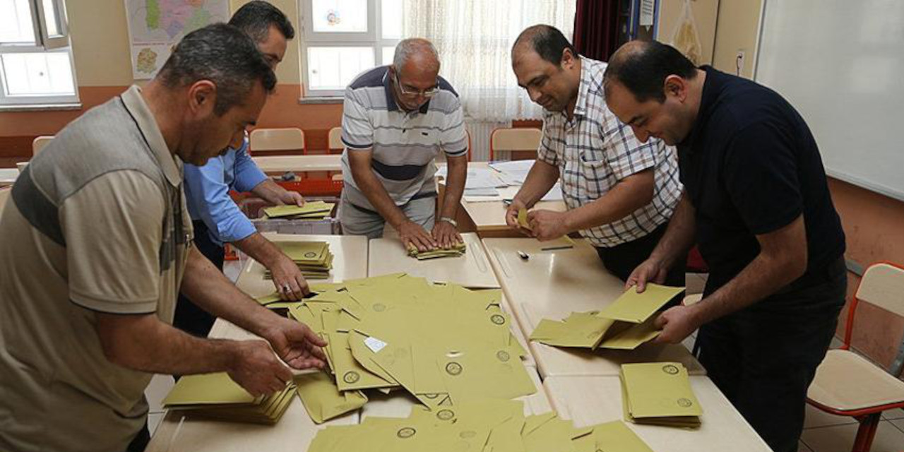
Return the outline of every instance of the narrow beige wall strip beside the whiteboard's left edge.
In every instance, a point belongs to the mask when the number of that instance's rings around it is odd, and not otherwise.
[[[740,75],[753,77],[756,61],[759,15],[762,0],[721,0],[719,20],[716,25],[716,43],[713,48],[712,66],[720,71],[736,72],[735,57],[743,50],[744,67]]]

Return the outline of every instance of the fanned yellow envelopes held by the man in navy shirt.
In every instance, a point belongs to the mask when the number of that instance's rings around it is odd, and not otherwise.
[[[542,319],[531,339],[559,347],[634,350],[659,335],[656,313],[683,291],[684,287],[647,284],[638,294],[631,287],[599,311],[571,313],[563,321]]]

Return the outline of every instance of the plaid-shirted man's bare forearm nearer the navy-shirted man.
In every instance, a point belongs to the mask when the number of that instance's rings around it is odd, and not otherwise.
[[[626,177],[603,197],[565,213],[569,232],[595,228],[621,220],[653,200],[653,170]]]

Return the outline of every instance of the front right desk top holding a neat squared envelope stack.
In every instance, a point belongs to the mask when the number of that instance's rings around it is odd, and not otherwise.
[[[576,427],[623,417],[618,377],[550,377],[543,381],[543,387],[559,416],[571,419]],[[692,376],[691,387],[703,408],[701,428],[691,430],[627,422],[628,427],[656,452],[771,450],[709,377]]]

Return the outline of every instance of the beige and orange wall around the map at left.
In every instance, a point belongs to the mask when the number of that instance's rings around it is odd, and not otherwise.
[[[247,0],[231,0],[231,10]],[[298,40],[301,33],[296,0],[272,0],[296,25],[296,39],[289,42],[286,57],[277,69],[277,92],[268,99],[259,127],[299,127],[325,143],[326,132],[339,126],[342,106],[300,105],[301,84]],[[75,59],[76,80],[82,108],[68,111],[0,112],[0,157],[6,161],[31,155],[31,141],[54,135],[85,110],[97,106],[135,82],[128,44],[123,0],[67,0]]]

